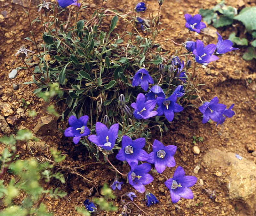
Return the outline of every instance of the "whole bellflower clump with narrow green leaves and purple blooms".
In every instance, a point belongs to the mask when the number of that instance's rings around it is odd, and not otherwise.
[[[217,96],[205,102],[201,99],[202,84],[197,69],[237,48],[219,33],[217,44],[194,39],[190,33],[200,34],[206,25],[201,15],[185,14],[181,23],[184,30],[187,28],[188,37],[182,39],[182,44],[175,42],[181,46],[176,52],[164,52],[156,42],[163,30],[159,20],[163,2],[158,1],[156,16],[145,12],[148,9],[144,2],[134,5],[130,18],[125,18],[125,29],[120,30],[118,19],[127,14],[98,8],[92,17],[78,20],[79,13],[86,8],[84,1],[58,0],[56,4],[42,1],[37,19],[43,25],[43,43],[39,45],[34,37],[27,38],[36,45],[34,56],[38,64],[30,68],[28,52],[34,51],[25,46],[16,53],[33,73],[32,82],[37,87],[34,93],[48,102],[55,97],[65,108],[62,121],[68,119],[68,123],[62,128],[67,137],[63,142],[70,145],[68,137],[73,137],[74,144],[85,145],[89,157],[95,156],[102,166],[113,171],[108,182],[113,190],[122,192],[122,187],[129,184],[134,192],[145,194],[148,207],[160,203],[148,191],[153,176],[157,175],[166,178],[166,189],[170,190],[173,203],[193,198],[190,187],[197,178],[185,175],[180,164],[176,164],[175,143],[162,141],[170,122],[178,121],[184,109],[196,106],[196,98],[203,103],[198,107],[202,123],[214,121],[221,125],[235,114],[234,104],[227,108],[219,103]],[[107,29],[102,24],[106,14],[112,17]],[[148,19],[150,25],[145,21]],[[152,128],[160,132],[155,139]],[[121,197],[123,212],[131,211],[129,202],[136,197],[134,192]],[[127,203],[127,199],[131,201]],[[109,210],[87,197],[84,206],[90,212]]]

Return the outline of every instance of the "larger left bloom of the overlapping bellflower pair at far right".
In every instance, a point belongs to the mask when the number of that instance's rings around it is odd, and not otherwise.
[[[203,113],[202,123],[204,124],[210,119],[218,122],[221,117],[220,113],[222,113],[226,109],[226,105],[219,104],[218,97],[214,97],[210,102],[207,101],[202,106],[199,106],[198,109],[200,112]]]

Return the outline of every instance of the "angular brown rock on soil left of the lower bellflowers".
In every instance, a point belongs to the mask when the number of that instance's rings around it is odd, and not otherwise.
[[[38,135],[48,135],[56,132],[57,128],[57,120],[54,116],[43,116],[41,117],[36,127],[34,128],[34,132]]]

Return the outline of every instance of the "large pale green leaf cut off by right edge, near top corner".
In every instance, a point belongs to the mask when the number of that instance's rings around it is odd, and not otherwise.
[[[256,30],[256,6],[245,7],[234,19],[241,21],[247,31]]]

